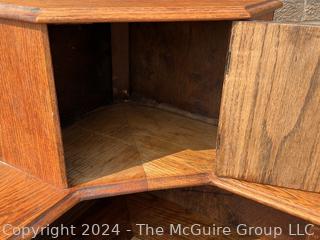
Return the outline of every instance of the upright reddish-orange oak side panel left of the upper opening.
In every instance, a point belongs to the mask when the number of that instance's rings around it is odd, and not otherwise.
[[[47,27],[0,21],[0,157],[66,187]]]

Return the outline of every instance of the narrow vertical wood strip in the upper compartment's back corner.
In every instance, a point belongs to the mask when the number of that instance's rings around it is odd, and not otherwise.
[[[111,24],[112,88],[114,98],[129,97],[129,24]]]

